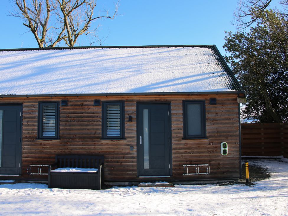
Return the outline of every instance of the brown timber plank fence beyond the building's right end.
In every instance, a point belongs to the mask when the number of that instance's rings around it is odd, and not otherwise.
[[[241,124],[243,156],[288,158],[288,123]]]

